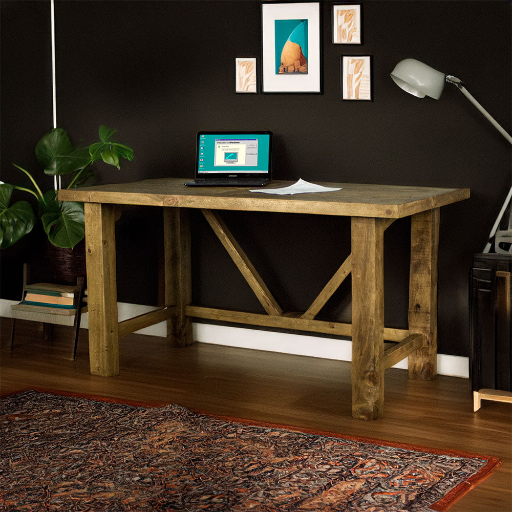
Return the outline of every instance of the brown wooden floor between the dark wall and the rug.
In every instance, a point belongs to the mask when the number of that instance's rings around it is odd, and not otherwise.
[[[450,511],[512,510],[511,407],[482,401],[473,413],[467,379],[410,381],[406,371],[389,369],[384,417],[362,421],[351,417],[348,362],[207,344],[174,349],[163,338],[131,334],[121,339],[119,375],[104,378],[89,373],[86,330],[73,361],[71,328],[56,327],[45,342],[41,325],[32,322],[18,321],[11,354],[11,322],[2,318],[0,326],[2,393],[46,388],[174,402],[212,414],[492,455],[502,465]]]

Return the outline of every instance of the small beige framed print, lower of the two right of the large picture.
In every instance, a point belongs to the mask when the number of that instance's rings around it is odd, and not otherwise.
[[[372,55],[342,55],[342,99],[373,101]]]

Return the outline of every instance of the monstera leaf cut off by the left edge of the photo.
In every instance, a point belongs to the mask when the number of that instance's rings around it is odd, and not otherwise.
[[[32,230],[34,212],[27,201],[18,201],[9,206],[13,186],[0,184],[0,247],[7,249]]]

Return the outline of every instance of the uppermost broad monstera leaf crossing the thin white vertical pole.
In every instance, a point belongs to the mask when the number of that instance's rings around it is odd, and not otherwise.
[[[51,176],[74,173],[91,163],[89,148],[74,149],[68,134],[61,128],[54,128],[42,136],[35,147],[35,154],[45,167],[45,174]]]

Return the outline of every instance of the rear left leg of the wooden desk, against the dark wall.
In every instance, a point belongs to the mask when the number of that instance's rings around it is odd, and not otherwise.
[[[167,321],[167,336],[173,345],[194,343],[192,322],[185,307],[192,300],[190,272],[190,218],[187,208],[164,208],[165,304],[176,306],[176,316]]]

